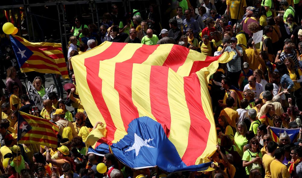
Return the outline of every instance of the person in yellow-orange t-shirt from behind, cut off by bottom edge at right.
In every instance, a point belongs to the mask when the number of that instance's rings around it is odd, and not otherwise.
[[[284,178],[291,176],[288,172],[287,167],[282,164],[282,161],[284,160],[284,154],[285,151],[283,148],[276,149],[275,160],[271,161],[271,165],[269,166],[271,169],[272,178]]]

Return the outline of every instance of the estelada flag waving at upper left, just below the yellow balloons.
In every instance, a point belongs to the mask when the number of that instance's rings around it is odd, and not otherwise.
[[[9,35],[21,72],[56,73],[69,78],[60,43],[32,43]]]

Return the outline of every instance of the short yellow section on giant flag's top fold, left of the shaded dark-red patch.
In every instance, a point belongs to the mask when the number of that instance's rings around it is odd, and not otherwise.
[[[142,64],[162,66],[171,51],[173,44],[159,45]]]

